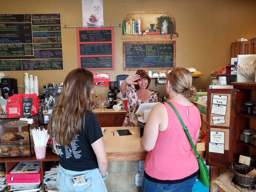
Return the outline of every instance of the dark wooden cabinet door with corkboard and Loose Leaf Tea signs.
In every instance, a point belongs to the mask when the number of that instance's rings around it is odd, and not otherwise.
[[[208,89],[206,164],[229,168],[234,159],[236,89]]]

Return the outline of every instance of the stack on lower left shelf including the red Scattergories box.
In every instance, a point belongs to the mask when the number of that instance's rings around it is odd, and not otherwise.
[[[42,188],[40,162],[20,162],[6,174],[10,191],[32,192]]]

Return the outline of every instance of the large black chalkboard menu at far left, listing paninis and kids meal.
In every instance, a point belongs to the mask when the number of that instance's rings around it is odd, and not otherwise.
[[[63,69],[60,14],[0,14],[0,71]]]

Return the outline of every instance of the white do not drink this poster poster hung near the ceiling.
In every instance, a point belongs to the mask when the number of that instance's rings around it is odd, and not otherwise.
[[[103,0],[82,0],[83,26],[104,25]]]

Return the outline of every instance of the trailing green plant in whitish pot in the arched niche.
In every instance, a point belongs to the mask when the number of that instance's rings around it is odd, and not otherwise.
[[[168,15],[163,15],[163,16],[157,17],[156,20],[157,20],[156,28],[159,29],[160,31],[164,31],[164,34],[170,34],[171,39],[174,34],[176,34],[177,37],[179,36],[177,32],[173,31],[174,23],[171,17],[169,17]]]

